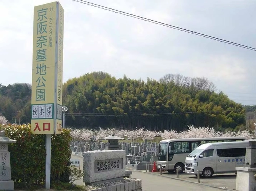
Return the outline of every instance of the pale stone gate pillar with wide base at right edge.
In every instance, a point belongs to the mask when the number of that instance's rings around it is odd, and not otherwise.
[[[236,167],[236,190],[256,191],[256,140],[249,139],[244,167]]]

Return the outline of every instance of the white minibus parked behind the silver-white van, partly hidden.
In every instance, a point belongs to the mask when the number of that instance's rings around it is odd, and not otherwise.
[[[159,142],[157,154],[157,167],[162,165],[163,170],[179,173],[185,171],[185,159],[190,152],[198,146],[211,142],[244,141],[245,137],[211,137],[211,138],[186,138],[166,139]]]

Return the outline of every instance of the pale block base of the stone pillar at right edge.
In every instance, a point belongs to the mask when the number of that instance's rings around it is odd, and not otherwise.
[[[256,191],[256,168],[236,167],[236,190]]]

